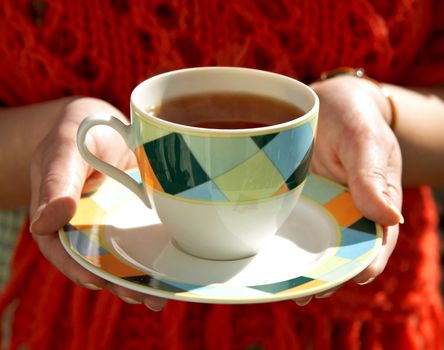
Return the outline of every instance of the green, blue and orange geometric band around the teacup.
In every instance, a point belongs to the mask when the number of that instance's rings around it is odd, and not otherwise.
[[[312,151],[307,123],[230,138],[171,132],[145,143],[136,155],[148,168],[142,169],[145,183],[155,190],[194,201],[241,203],[294,190],[308,173]]]

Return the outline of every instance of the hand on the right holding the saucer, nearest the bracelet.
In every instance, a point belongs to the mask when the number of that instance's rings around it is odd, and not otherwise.
[[[379,88],[365,79],[343,75],[312,88],[320,99],[320,114],[311,171],[348,186],[364,216],[384,226],[377,257],[354,278],[369,283],[384,270],[403,222],[401,152],[389,127],[390,107]]]

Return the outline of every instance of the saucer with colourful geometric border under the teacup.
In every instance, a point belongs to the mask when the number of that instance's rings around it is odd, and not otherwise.
[[[137,170],[129,174],[140,182]],[[204,303],[300,298],[338,286],[364,270],[382,243],[348,190],[309,175],[290,218],[255,256],[205,260],[177,248],[154,210],[112,179],[82,198],[59,231],[66,251],[92,273],[159,297]]]

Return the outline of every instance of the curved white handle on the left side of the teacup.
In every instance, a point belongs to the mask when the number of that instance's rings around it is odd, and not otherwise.
[[[142,184],[137,183],[124,171],[104,162],[103,160],[100,160],[89,151],[88,147],[85,144],[86,135],[88,134],[89,130],[96,125],[105,125],[113,128],[123,137],[128,147],[131,148],[131,126],[125,125],[119,119],[111,115],[105,113],[96,113],[85,118],[80,123],[79,129],[77,131],[77,148],[79,149],[81,156],[94,169],[100,171],[105,175],[108,175],[109,177],[120,182],[129,190],[134,192],[134,194],[137,195],[137,197],[139,197],[140,200],[148,208],[151,208],[150,200],[148,199],[145,188]]]

